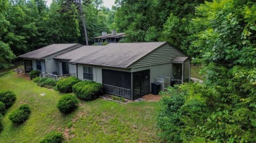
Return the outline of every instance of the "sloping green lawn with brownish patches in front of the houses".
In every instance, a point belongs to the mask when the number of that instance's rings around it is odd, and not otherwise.
[[[66,142],[160,142],[156,127],[159,103],[119,104],[96,99],[80,101],[75,112],[62,115],[56,108],[61,93],[18,78],[14,72],[0,76],[0,89],[11,89],[17,95],[3,118],[0,142],[39,142],[53,130],[64,133]],[[32,114],[16,127],[8,116],[23,103],[30,104]]]

